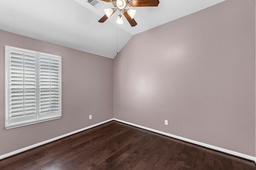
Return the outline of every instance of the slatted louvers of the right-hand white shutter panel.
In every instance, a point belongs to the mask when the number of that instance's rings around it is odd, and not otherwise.
[[[40,113],[59,110],[58,60],[40,57]]]

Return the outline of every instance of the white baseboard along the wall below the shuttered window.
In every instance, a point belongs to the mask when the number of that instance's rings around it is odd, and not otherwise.
[[[77,130],[77,131],[73,131],[73,132],[67,133],[67,134],[65,134],[65,135],[61,135],[61,136],[58,136],[58,137],[49,139],[49,140],[47,140],[47,141],[43,141],[43,142],[40,142],[40,143],[36,143],[36,144],[34,144],[34,145],[31,145],[31,146],[28,146],[28,147],[25,147],[25,148],[22,148],[22,149],[19,149],[19,150],[15,150],[15,151],[13,151],[13,152],[10,152],[10,153],[4,154],[4,155],[0,155],[0,160],[1,160],[1,159],[4,159],[4,158],[7,158],[7,157],[9,157],[9,156],[13,156],[13,155],[15,155],[15,154],[24,152],[24,151],[26,151],[26,150],[30,150],[30,149],[39,147],[39,146],[44,145],[44,144],[46,144],[46,143],[50,143],[50,142],[56,141],[56,140],[58,140],[58,139],[61,139],[61,138],[64,138],[64,137],[73,135],[73,134],[75,134],[75,133],[78,133],[78,132],[81,132],[81,131],[90,129],[90,128],[92,128],[92,127],[96,127],[96,126],[98,126],[98,125],[102,125],[102,124],[107,123],[107,122],[112,121],[112,120],[114,120],[114,119],[109,119],[109,120],[106,120],[106,121],[102,121],[102,122],[97,123],[97,124],[95,124],[95,125],[91,125],[91,126],[88,126],[88,127],[83,128],[83,129],[79,129],[79,130]]]

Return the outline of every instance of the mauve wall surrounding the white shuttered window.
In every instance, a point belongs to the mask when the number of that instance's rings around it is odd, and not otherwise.
[[[4,45],[62,56],[60,119],[5,129]],[[0,155],[112,119],[113,114],[113,59],[0,30]]]

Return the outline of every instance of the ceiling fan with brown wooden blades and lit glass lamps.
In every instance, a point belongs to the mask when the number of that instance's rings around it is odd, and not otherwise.
[[[159,0],[102,0],[104,2],[111,2],[115,8],[108,8],[104,9],[105,15],[99,20],[99,22],[103,23],[105,22],[114,12],[117,10],[120,12],[118,15],[118,18],[116,20],[116,23],[122,24],[123,19],[121,12],[124,14],[124,17],[126,20],[130,23],[132,27],[136,26],[137,23],[134,20],[134,15],[136,13],[136,10],[131,9],[125,9],[127,6],[130,7],[140,7],[140,6],[158,6]]]

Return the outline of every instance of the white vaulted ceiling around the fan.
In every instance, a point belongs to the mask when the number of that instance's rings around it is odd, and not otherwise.
[[[104,23],[105,8],[96,9],[87,0],[0,0],[0,29],[78,49],[88,53],[114,58],[117,51],[140,32],[192,14],[224,0],[159,0],[158,7],[136,7],[131,27],[116,24],[117,13]]]

